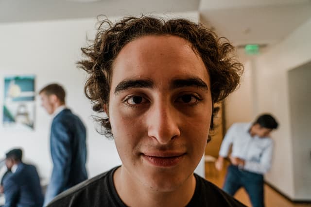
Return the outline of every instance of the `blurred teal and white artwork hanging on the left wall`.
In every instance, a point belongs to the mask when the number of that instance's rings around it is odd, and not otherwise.
[[[4,77],[3,127],[32,131],[35,125],[35,76]]]

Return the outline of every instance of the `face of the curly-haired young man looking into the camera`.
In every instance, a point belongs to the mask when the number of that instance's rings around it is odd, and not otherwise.
[[[113,64],[108,106],[122,175],[155,191],[191,177],[212,102],[207,68],[189,42],[150,35],[128,43]]]

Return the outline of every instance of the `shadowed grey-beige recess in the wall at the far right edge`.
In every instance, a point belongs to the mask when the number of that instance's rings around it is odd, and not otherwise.
[[[311,192],[310,80],[311,62],[288,71],[295,199],[310,197]]]

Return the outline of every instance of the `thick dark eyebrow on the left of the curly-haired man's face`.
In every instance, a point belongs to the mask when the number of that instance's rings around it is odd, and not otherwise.
[[[123,80],[115,88],[115,94],[131,88],[154,88],[151,80]]]

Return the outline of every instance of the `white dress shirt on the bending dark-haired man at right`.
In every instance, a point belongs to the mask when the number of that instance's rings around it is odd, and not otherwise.
[[[232,144],[231,156],[244,159],[243,170],[265,174],[271,166],[274,143],[269,137],[252,137],[251,126],[251,123],[233,124],[225,134],[219,155],[227,157]]]

